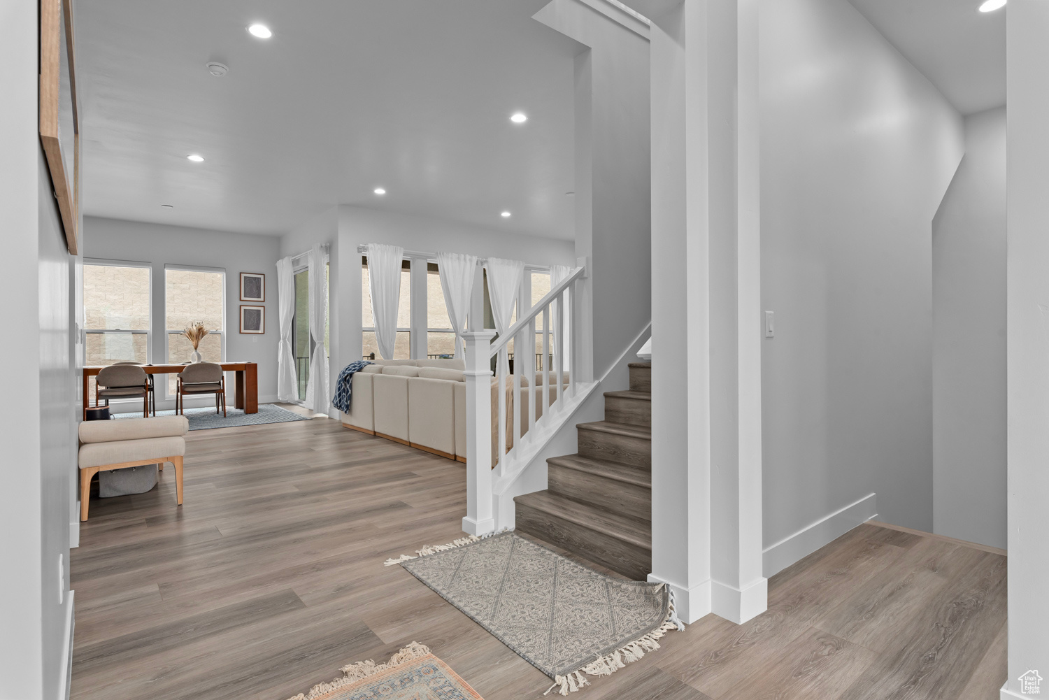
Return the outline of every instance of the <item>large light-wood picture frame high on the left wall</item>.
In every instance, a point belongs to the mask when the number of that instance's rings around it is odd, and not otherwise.
[[[72,0],[40,0],[40,143],[69,253],[80,251],[80,105]]]

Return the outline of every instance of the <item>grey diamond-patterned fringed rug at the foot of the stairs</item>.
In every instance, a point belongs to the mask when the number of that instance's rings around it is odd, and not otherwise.
[[[668,587],[613,578],[513,532],[425,547],[400,564],[554,680],[561,695],[683,629]],[[549,693],[550,691],[548,691]]]

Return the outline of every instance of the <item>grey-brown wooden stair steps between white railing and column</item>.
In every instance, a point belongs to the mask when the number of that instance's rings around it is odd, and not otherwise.
[[[579,423],[579,452],[547,460],[548,488],[515,496],[516,529],[635,580],[651,571],[651,364]]]

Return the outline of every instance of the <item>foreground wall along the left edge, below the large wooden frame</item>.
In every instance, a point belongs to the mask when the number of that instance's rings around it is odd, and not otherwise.
[[[72,600],[69,480],[76,390],[66,251],[38,136],[37,4],[0,5],[0,221],[4,319],[23,342],[0,349],[13,400],[0,406],[0,697],[63,697]],[[37,339],[39,338],[39,345]],[[59,600],[63,592],[62,602]]]

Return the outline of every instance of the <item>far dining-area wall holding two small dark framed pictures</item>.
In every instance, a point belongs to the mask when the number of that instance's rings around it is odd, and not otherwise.
[[[277,398],[277,236],[208,231],[163,224],[125,221],[112,218],[84,217],[84,256],[107,260],[148,262],[152,268],[152,353],[153,362],[167,361],[164,325],[165,264],[222,268],[226,270],[226,358],[231,361],[257,362],[259,401]],[[265,275],[265,302],[240,301],[240,273]],[[240,333],[240,304],[266,307],[265,333]],[[158,380],[163,381],[163,380]],[[228,387],[232,377],[228,376]],[[159,384],[157,385],[159,388]],[[227,397],[233,405],[232,394]],[[209,401],[202,399],[205,404]],[[187,400],[187,405],[190,405]],[[174,400],[165,401],[157,391],[156,408],[174,408]]]

